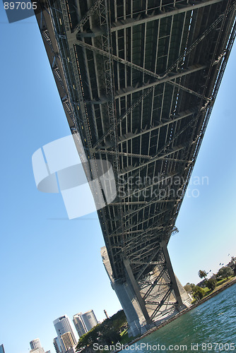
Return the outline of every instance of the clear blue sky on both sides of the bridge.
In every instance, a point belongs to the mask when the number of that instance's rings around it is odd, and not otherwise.
[[[96,214],[66,220],[61,196],[35,187],[33,152],[70,131],[35,19],[8,24],[3,6],[0,14],[0,344],[26,353],[40,337],[54,352],[55,318],[93,309],[102,320],[103,309],[112,315],[120,305],[100,258]],[[200,195],[185,198],[169,244],[183,284],[236,255],[235,62],[234,50],[194,169],[209,183],[191,185]]]

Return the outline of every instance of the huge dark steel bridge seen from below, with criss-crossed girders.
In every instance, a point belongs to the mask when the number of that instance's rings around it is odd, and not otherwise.
[[[117,197],[98,211],[110,278],[129,283],[150,324],[163,309],[184,307],[167,244],[235,39],[235,1],[40,6],[71,133],[88,160],[112,163]],[[88,179],[98,176],[94,165]]]

